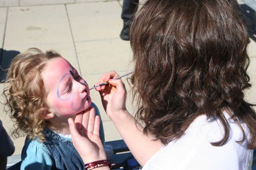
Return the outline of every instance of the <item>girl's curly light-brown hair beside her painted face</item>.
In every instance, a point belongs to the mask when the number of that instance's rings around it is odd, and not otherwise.
[[[48,121],[42,115],[48,106],[42,71],[47,61],[55,57],[60,57],[56,51],[43,53],[30,48],[14,57],[10,64],[5,80],[7,87],[3,92],[6,99],[4,111],[10,113],[14,121],[12,134],[17,138],[27,134],[28,138],[45,140],[42,130]]]

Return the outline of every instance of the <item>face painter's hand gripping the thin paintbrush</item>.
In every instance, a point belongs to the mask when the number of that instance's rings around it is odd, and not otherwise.
[[[97,87],[100,92],[102,105],[110,119],[118,115],[120,111],[126,111],[126,89],[122,79],[114,80],[119,75],[115,71],[110,71],[100,77],[98,84],[108,82],[108,85]],[[115,114],[117,113],[117,114]]]

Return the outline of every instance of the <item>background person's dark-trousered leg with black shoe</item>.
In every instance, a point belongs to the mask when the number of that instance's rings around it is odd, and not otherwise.
[[[122,40],[130,40],[131,19],[137,9],[139,0],[124,0],[121,18],[124,22],[123,29],[120,34]]]

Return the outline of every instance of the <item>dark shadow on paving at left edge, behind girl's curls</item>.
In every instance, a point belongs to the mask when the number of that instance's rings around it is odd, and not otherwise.
[[[0,82],[4,79],[12,59],[19,53],[20,51],[7,51],[0,48]]]

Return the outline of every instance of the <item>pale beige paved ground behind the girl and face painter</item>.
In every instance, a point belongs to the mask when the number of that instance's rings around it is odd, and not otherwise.
[[[7,68],[10,59],[19,52],[38,47],[42,51],[58,51],[78,69],[90,87],[105,72],[115,70],[120,75],[127,73],[132,70],[132,51],[130,42],[119,37],[123,24],[121,10],[122,0],[0,0],[1,67]],[[254,103],[255,39],[251,39],[248,47],[253,88],[246,92],[248,100]],[[3,73],[0,72],[0,75]],[[123,81],[129,87],[125,78]],[[1,93],[3,88],[4,84],[0,84]],[[91,97],[101,112],[106,141],[121,139],[106,116],[98,92],[92,90]],[[133,113],[130,96],[127,105]],[[13,123],[2,110],[0,105],[0,119],[6,130],[10,130]],[[14,155],[20,154],[24,137],[13,141],[16,146]]]

